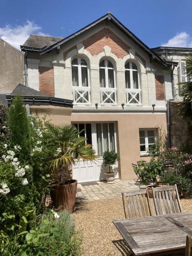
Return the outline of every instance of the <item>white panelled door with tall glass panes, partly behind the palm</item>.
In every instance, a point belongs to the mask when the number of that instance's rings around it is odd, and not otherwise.
[[[102,154],[105,150],[117,151],[115,123],[78,123],[75,124],[78,131],[84,129],[81,136],[88,138],[87,142],[93,145],[98,159],[95,161],[80,161],[73,166],[73,178],[78,182],[105,180],[105,172],[109,167],[104,166]],[[118,178],[118,165],[112,166]]]

